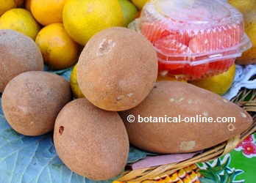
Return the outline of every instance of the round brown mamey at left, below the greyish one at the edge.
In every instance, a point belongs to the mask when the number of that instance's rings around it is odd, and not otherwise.
[[[23,135],[43,135],[54,129],[61,108],[71,100],[68,81],[43,71],[24,72],[10,81],[2,95],[7,122]]]

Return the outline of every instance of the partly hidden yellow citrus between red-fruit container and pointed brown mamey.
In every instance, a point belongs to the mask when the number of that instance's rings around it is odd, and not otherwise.
[[[220,75],[215,75],[210,78],[205,78],[198,81],[191,81],[193,85],[200,88],[213,91],[216,94],[225,94],[231,87],[235,78],[235,64],[233,64],[227,72]]]

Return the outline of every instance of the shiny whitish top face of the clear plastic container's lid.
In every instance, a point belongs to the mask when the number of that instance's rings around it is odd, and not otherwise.
[[[243,21],[238,10],[218,0],[152,0],[144,7],[142,18],[160,20],[170,29],[179,30],[201,30]]]

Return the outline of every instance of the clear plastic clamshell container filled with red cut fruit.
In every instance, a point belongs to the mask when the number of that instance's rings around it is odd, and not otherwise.
[[[252,46],[241,12],[221,0],[152,0],[136,22],[157,51],[162,76],[216,75]]]

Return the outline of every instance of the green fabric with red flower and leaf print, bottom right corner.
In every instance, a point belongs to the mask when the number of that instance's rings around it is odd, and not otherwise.
[[[202,183],[256,182],[256,133],[247,137],[230,154],[199,163]]]

